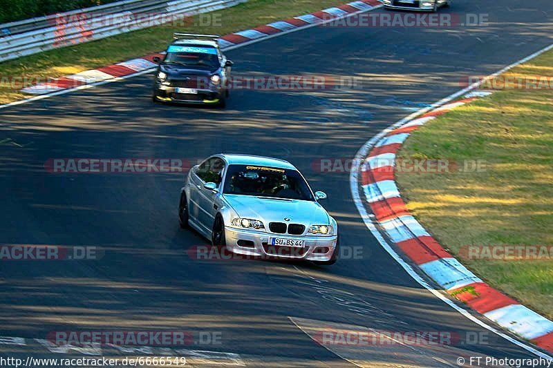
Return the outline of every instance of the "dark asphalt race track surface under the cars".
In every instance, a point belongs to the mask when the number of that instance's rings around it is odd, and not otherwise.
[[[1,112],[1,244],[98,246],[96,261],[0,263],[0,356],[61,357],[34,338],[50,331],[204,331],[221,344],[188,349],[239,354],[251,367],[456,366],[457,356],[532,358],[422,289],[359,218],[348,173],[320,173],[319,159],[350,159],[367,139],[461,88],[550,44],[550,0],[455,1],[449,10],[489,14],[489,26],[316,27],[227,52],[235,75],[356,75],[363,88],[308,92],[235,90],[225,110],[154,105],[151,75]],[[219,152],[288,159],[339,223],[341,244],[362,259],[333,267],[268,261],[198,262],[208,244],[178,227],[183,175],[51,174],[59,157],[171,157]],[[462,229],[460,229],[462,231]],[[315,327],[451,331],[447,347],[329,347]],[[301,329],[299,328],[301,327]],[[349,327],[348,327],[349,328]],[[467,336],[484,333],[471,345]],[[332,352],[332,350],[334,352]],[[336,353],[336,354],[335,354]],[[80,356],[71,351],[73,356]],[[215,364],[197,360],[198,365]]]

